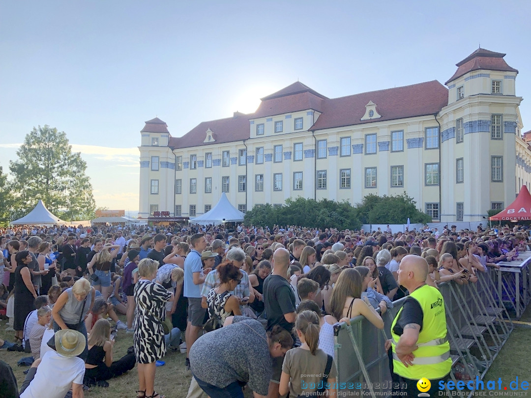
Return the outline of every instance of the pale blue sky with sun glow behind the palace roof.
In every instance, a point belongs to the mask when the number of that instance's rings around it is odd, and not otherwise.
[[[531,129],[531,2],[0,2],[0,166],[33,126],[64,131],[97,206],[139,208],[140,130],[253,112],[299,80],[329,98],[446,82],[480,45],[519,70]]]

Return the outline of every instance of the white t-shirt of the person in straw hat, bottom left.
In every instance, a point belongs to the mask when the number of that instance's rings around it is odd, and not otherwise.
[[[35,378],[20,398],[40,398],[43,393],[47,398],[64,398],[72,383],[83,384],[84,375],[85,362],[81,358],[64,357],[50,350],[42,357]]]

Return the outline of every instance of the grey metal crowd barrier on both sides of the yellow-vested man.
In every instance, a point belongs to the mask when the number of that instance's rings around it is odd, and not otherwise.
[[[522,256],[525,260],[518,265],[501,264],[500,270],[477,272],[477,283],[439,285],[446,306],[453,381],[482,379],[513,330],[511,308],[506,304],[512,303],[517,317],[525,310],[531,299],[531,252]],[[392,379],[384,342],[391,337],[391,324],[405,299],[393,302],[394,307],[383,314],[382,331],[363,316],[353,318],[350,326],[335,326],[340,395],[390,395]]]

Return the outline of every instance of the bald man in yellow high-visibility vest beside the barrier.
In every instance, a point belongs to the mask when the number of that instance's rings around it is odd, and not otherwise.
[[[452,360],[446,333],[446,310],[438,289],[426,284],[428,264],[422,257],[408,255],[398,268],[398,284],[409,290],[409,296],[391,325],[391,374],[407,385],[407,396],[417,396],[417,382],[430,380],[430,396],[437,396],[439,381],[450,373]]]

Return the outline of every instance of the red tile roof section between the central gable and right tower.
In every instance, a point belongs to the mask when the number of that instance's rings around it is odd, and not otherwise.
[[[361,120],[365,115],[365,105],[369,101],[376,104],[376,111],[381,117]],[[438,81],[433,80],[426,83],[334,98],[323,101],[323,104],[323,113],[310,128],[311,131],[433,115],[448,105],[448,89]]]

